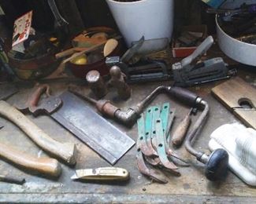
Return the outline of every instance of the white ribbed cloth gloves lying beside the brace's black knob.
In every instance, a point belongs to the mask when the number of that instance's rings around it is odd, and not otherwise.
[[[256,186],[256,130],[233,123],[220,126],[210,136],[211,151],[228,151],[228,166],[245,183]]]

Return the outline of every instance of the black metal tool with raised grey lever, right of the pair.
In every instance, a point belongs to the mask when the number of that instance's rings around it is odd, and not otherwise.
[[[180,62],[173,64],[173,80],[176,86],[193,86],[206,82],[230,78],[236,75],[236,70],[228,70],[227,64],[221,57],[212,58],[196,63],[196,59],[202,56],[213,45],[213,37],[206,38],[194,53]]]

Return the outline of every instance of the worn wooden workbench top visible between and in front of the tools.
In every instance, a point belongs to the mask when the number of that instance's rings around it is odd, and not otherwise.
[[[241,70],[239,71],[239,75],[247,81],[254,82],[255,73],[253,72]],[[210,117],[206,122],[206,126],[202,129],[198,140],[195,141],[195,147],[206,152],[209,152],[207,148],[208,141],[210,133],[214,129],[225,123],[237,122],[235,116],[228,112],[210,94],[210,89],[219,83],[215,82],[208,85],[196,86],[191,89],[210,104]],[[129,107],[143,99],[143,97],[147,96],[148,93],[161,84],[168,83],[159,82],[134,85],[132,86],[132,98],[125,102],[118,101],[113,91],[106,98],[113,100],[120,107]],[[51,83],[54,94],[61,93],[67,86],[68,83]],[[13,104],[14,102],[25,100],[28,97],[29,91],[30,89],[21,89],[20,93],[9,98],[8,102]],[[189,109],[165,95],[159,95],[152,104],[162,104],[166,101],[171,103],[171,107],[176,108],[176,120],[173,126],[173,129],[175,129]],[[62,163],[63,171],[61,177],[58,180],[50,180],[39,175],[32,175],[28,171],[18,169],[12,164],[1,160],[0,172],[2,174],[8,173],[24,177],[27,182],[23,186],[0,182],[0,202],[256,202],[256,189],[244,184],[231,172],[228,173],[227,179],[220,183],[213,183],[206,180],[203,174],[202,164],[196,162],[194,157],[187,154],[184,146],[176,152],[190,161],[191,166],[180,168],[181,177],[173,177],[171,174],[166,173],[166,176],[169,178],[168,184],[151,183],[148,178],[139,173],[135,161],[135,147],[128,151],[115,165],[128,169],[131,179],[127,183],[94,184],[74,182],[70,180],[74,169],[109,166],[109,163],[99,157],[90,148],[87,148],[85,144],[77,140],[76,137],[72,136],[71,133],[61,127],[57,122],[54,122],[50,117],[39,116],[34,118],[32,115],[28,115],[28,117],[32,118],[40,128],[44,129],[54,139],[75,142],[79,150],[77,164],[71,168]],[[86,119],[86,115],[84,117]],[[32,140],[29,140],[20,129],[17,129],[10,122],[0,118],[0,124],[4,126],[1,130],[0,142],[11,144],[18,150],[29,152],[35,156],[49,156],[33,144]],[[116,122],[113,122],[113,124],[127,133],[133,140],[136,140],[136,126],[133,126],[132,129],[126,129]]]

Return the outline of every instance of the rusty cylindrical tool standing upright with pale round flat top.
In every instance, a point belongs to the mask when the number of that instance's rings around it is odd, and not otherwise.
[[[89,71],[86,75],[86,81],[95,97],[98,99],[104,97],[107,93],[106,85],[98,71]]]

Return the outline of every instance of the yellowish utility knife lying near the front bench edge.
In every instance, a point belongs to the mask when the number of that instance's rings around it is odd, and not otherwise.
[[[78,169],[72,180],[128,180],[128,170],[116,167]]]

